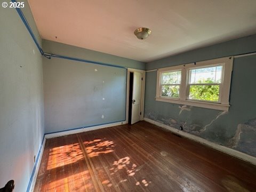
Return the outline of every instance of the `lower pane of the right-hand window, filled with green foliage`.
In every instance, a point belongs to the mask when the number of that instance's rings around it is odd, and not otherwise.
[[[219,101],[220,85],[190,85],[189,99]]]

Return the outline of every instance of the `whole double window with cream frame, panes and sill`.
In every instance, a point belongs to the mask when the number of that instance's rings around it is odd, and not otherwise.
[[[157,70],[156,100],[228,111],[233,57]]]

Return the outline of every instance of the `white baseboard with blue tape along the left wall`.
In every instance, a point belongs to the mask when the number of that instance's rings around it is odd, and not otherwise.
[[[33,192],[34,191],[34,187],[35,187],[35,183],[36,183],[36,178],[37,178],[37,174],[38,174],[38,171],[39,171],[39,166],[41,164],[41,161],[42,161],[42,156],[43,156],[43,151],[44,151],[44,146],[45,146],[45,137],[43,138],[43,142],[42,142],[42,145],[40,146],[39,148],[39,151],[38,151],[38,154],[37,154],[37,157],[36,157],[36,162],[35,162],[35,165],[34,165],[34,169],[33,169],[33,175],[32,177],[30,178],[31,180],[31,184],[30,184],[30,187],[29,189],[27,189],[27,192]]]

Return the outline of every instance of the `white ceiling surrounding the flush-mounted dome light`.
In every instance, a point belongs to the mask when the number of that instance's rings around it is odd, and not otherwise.
[[[144,62],[256,33],[255,0],[29,0],[29,5],[44,39]],[[151,35],[137,39],[138,27],[150,28]]]

